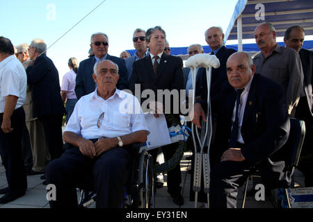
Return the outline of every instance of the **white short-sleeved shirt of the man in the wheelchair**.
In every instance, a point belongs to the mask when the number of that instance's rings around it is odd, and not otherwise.
[[[103,112],[98,128],[97,122]],[[117,137],[138,130],[150,133],[138,99],[115,89],[113,96],[104,100],[97,94],[97,88],[95,92],[79,99],[65,128],[65,131],[76,133],[85,139]]]

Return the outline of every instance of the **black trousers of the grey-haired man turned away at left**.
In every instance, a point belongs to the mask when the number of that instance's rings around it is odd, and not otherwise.
[[[51,160],[61,157],[63,150],[62,138],[62,119],[63,115],[44,115],[39,120],[45,131],[45,140],[49,148]]]

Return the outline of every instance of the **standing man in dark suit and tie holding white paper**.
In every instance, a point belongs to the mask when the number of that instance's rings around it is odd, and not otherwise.
[[[157,89],[183,89],[183,74],[182,74],[182,59],[176,56],[168,56],[164,51],[166,45],[166,33],[160,26],[150,28],[146,33],[146,41],[150,49],[150,56],[134,62],[133,73],[129,80],[129,89],[135,94],[135,84],[141,85],[141,92],[145,89],[152,89],[155,98],[157,98]],[[141,104],[144,100],[138,98]],[[158,98],[160,101],[160,98]],[[160,104],[160,103],[159,103]],[[160,105],[158,108],[167,110],[167,107],[164,105],[165,99],[163,99],[163,108]],[[179,114],[174,114],[173,110],[179,107],[179,100],[170,101],[170,114],[178,119]],[[151,108],[151,107],[150,107]],[[151,108],[154,110],[154,108]],[[154,117],[159,117],[157,112],[154,114]],[[168,115],[166,114],[166,117]],[[169,123],[168,123],[169,125]],[[175,153],[178,144],[169,144],[162,147],[163,155],[165,160],[168,161]],[[154,149],[157,151],[157,149]],[[157,153],[154,153],[153,156],[156,157]],[[177,205],[184,204],[184,198],[180,193],[182,187],[180,183],[182,182],[182,176],[180,171],[180,165],[168,171],[168,192],[173,198],[173,201]]]

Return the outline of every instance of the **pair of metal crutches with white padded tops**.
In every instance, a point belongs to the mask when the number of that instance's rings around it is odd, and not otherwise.
[[[191,133],[193,136],[193,146],[194,146],[194,156],[195,156],[195,166],[193,173],[193,191],[195,191],[195,208],[198,205],[198,192],[201,189],[201,173],[203,170],[204,176],[204,193],[207,194],[207,204],[209,207],[209,173],[210,173],[210,164],[209,164],[209,147],[211,144],[212,136],[212,120],[211,120],[211,101],[210,101],[210,88],[211,88],[211,67],[218,68],[220,62],[216,56],[209,54],[197,54],[192,56],[186,61],[186,67],[191,68],[192,74],[192,104],[195,104],[195,80],[197,76],[197,69],[204,67],[206,69],[207,76],[207,117],[204,128],[204,137],[202,139],[199,136],[198,128],[195,125],[191,124]],[[197,140],[195,139],[197,136]],[[202,141],[201,141],[202,140]],[[197,142],[200,145],[200,149],[197,146]],[[204,146],[207,142],[207,148],[204,150]]]

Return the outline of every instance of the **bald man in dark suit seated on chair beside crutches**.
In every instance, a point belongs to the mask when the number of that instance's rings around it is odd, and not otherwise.
[[[227,60],[227,78],[212,101],[217,114],[216,137],[210,148],[210,207],[236,207],[238,187],[250,167],[267,162],[287,141],[289,117],[284,89],[269,78],[255,74],[248,53],[234,53]],[[202,104],[203,105],[203,104]],[[201,103],[195,104],[193,123],[205,118]]]

